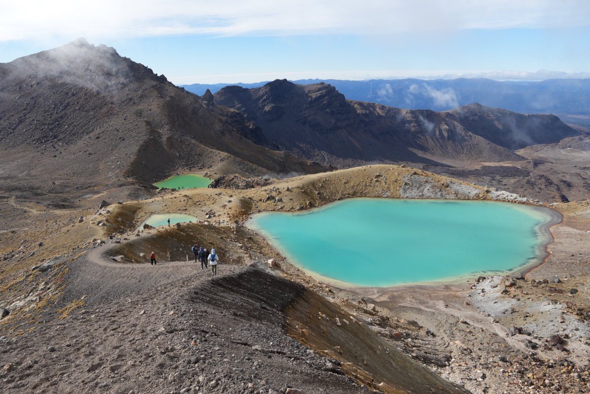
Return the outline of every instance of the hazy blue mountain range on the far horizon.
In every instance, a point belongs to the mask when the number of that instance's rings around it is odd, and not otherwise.
[[[255,88],[267,82],[235,85]],[[552,113],[566,123],[590,127],[590,79],[554,79],[540,82],[494,81],[485,78],[293,81],[301,85],[320,82],[334,86],[349,100],[433,111],[446,111],[458,106],[480,103],[520,113]],[[215,93],[229,85],[191,84],[182,87],[201,95],[207,89]]]

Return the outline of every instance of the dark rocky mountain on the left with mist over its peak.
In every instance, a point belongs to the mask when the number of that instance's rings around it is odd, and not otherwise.
[[[116,188],[194,166],[250,174],[321,169],[265,143],[236,111],[213,108],[84,39],[0,64],[4,191]]]

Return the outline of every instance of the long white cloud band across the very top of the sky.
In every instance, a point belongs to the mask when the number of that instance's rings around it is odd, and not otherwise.
[[[550,28],[589,15],[587,0],[0,0],[0,41]]]

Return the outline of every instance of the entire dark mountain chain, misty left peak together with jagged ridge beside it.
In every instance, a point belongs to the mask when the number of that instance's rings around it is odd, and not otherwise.
[[[0,192],[61,207],[105,188],[139,198],[138,185],[194,168],[260,176],[521,160],[514,150],[579,134],[555,116],[480,104],[398,109],[347,100],[325,83],[196,96],[86,40],[0,64]]]

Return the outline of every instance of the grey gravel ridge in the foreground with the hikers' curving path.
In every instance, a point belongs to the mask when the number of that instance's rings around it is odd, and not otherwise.
[[[64,304],[83,305],[0,339],[2,393],[369,393],[284,333],[296,290],[280,300],[260,286],[232,291],[270,275],[222,264],[212,280],[194,262],[120,264],[104,260],[112,246],[70,264]]]

